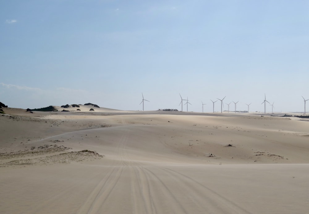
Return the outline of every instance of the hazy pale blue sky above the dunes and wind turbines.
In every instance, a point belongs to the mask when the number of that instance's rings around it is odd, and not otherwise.
[[[0,2],[0,102],[304,111],[306,0]],[[266,111],[271,111],[267,103]],[[309,111],[309,102],[307,104]],[[186,111],[187,107],[183,106]],[[214,111],[221,111],[220,101]]]

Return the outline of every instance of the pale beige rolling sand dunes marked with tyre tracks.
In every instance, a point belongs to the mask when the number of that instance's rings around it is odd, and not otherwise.
[[[309,120],[90,108],[4,108],[1,213],[308,213]]]

